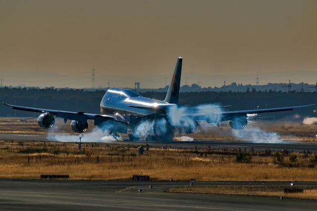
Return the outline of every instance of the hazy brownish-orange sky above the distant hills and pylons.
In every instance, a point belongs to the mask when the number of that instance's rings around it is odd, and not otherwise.
[[[0,0],[4,85],[317,80],[317,0]]]

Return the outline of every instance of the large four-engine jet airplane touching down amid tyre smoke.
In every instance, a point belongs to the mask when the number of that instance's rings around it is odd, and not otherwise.
[[[142,97],[139,93],[119,88],[110,88],[106,91],[100,103],[100,114],[63,111],[45,108],[35,108],[26,106],[9,105],[3,103],[5,106],[11,106],[13,109],[32,111],[42,113],[38,117],[38,124],[43,128],[51,128],[55,124],[54,117],[63,118],[64,123],[71,120],[71,129],[76,133],[83,133],[88,129],[87,120],[94,120],[94,125],[109,131],[109,134],[116,135],[117,133],[127,133],[130,140],[138,140],[145,134],[136,134],[136,128],[144,122],[152,122],[152,127],[155,128],[151,131],[152,140],[172,140],[176,129],[182,132],[191,133],[196,130],[199,120],[204,120],[206,115],[210,112],[214,116],[208,119],[208,123],[215,123],[219,125],[221,121],[229,121],[229,125],[233,129],[243,129],[248,124],[248,114],[257,114],[264,112],[277,112],[293,110],[313,105],[304,106],[291,106],[291,107],[278,107],[278,108],[265,108],[253,110],[237,110],[237,111],[221,111],[214,107],[205,107],[202,112],[191,111],[186,114],[186,118],[192,120],[192,124],[185,124],[180,121],[178,125],[174,125],[169,118],[169,113],[172,108],[181,108],[178,105],[181,70],[182,70],[182,57],[178,57],[174,73],[164,100],[156,100]],[[227,106],[216,106],[216,108]],[[164,130],[161,129],[161,122],[164,123]]]

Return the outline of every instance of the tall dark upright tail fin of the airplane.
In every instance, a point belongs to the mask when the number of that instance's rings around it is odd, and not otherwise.
[[[180,76],[182,74],[182,63],[183,63],[183,58],[178,57],[174,74],[173,74],[172,80],[170,82],[170,85],[168,87],[168,91],[164,100],[166,103],[178,104]]]

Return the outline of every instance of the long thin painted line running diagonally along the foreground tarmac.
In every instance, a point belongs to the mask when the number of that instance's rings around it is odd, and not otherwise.
[[[42,198],[54,198],[54,199],[73,199],[73,200],[91,200],[91,201],[102,201],[102,202],[116,202],[116,203],[127,203],[127,204],[137,204],[144,206],[153,207],[169,207],[169,208],[190,208],[190,209],[204,209],[204,210],[223,210],[223,211],[254,211],[254,210],[240,210],[231,208],[221,208],[221,207],[203,207],[203,206],[189,206],[189,205],[173,205],[173,204],[159,204],[159,203],[149,203],[149,202],[136,202],[127,200],[115,200],[115,199],[92,199],[92,198],[78,198],[78,197],[63,197],[63,196],[43,196],[43,195],[23,195],[23,194],[8,194],[0,193],[2,195],[10,196],[20,196],[20,197],[42,197]]]

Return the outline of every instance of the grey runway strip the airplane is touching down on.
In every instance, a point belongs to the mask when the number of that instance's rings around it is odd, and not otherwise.
[[[58,137],[55,135],[54,137]],[[65,135],[63,135],[65,137]],[[66,135],[66,137],[68,137]],[[85,136],[84,136],[85,138]],[[83,142],[85,139],[83,138]],[[4,140],[27,140],[27,141],[55,141],[56,139],[48,138],[46,135],[24,135],[24,134],[9,134],[9,133],[0,133],[0,139]],[[78,141],[76,136],[69,135],[69,138],[66,138],[67,141],[75,142]],[[124,145],[146,145],[146,142],[136,142],[136,141],[113,141],[108,142],[112,144],[124,144]],[[171,147],[171,148],[192,148],[195,149],[206,149],[211,147],[211,149],[246,149],[246,150],[255,150],[255,151],[264,151],[264,150],[275,150],[275,151],[294,151],[294,152],[317,152],[317,144],[304,143],[304,142],[285,142],[285,143],[252,143],[247,141],[174,141],[174,142],[149,142],[150,147]]]

